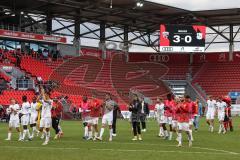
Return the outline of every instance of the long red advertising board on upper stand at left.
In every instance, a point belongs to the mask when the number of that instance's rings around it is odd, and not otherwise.
[[[4,29],[0,29],[0,37],[24,39],[24,40],[30,40],[30,41],[41,41],[41,42],[48,42],[48,43],[66,43],[67,42],[67,39],[65,37],[17,32],[17,31],[10,31],[10,30],[4,30]]]

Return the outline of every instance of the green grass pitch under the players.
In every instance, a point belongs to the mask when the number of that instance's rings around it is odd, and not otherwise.
[[[49,145],[42,146],[39,137],[29,142],[18,142],[18,134],[14,132],[12,141],[4,141],[7,136],[7,124],[0,123],[0,160],[239,160],[240,131],[239,118],[234,118],[234,132],[219,135],[218,124],[215,132],[209,133],[208,127],[201,120],[198,132],[193,132],[193,147],[188,147],[187,136],[183,134],[182,148],[177,148],[175,140],[168,141],[157,137],[158,126],[153,120],[147,122],[147,132],[143,133],[143,141],[131,141],[132,132],[128,121],[118,120],[118,135],[113,142],[108,142],[108,129],[105,130],[103,142],[85,141],[82,139],[83,129],[79,121],[63,121],[64,137],[52,140]],[[51,131],[51,137],[54,132]],[[176,135],[174,135],[175,139]]]

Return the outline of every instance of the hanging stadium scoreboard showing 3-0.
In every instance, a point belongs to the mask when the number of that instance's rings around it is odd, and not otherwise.
[[[160,25],[161,52],[204,52],[206,26]]]

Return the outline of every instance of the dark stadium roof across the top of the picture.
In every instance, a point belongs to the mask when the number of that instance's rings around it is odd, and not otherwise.
[[[240,9],[188,11],[163,4],[137,0],[1,0],[0,7],[14,12],[50,14],[64,19],[80,19],[83,22],[106,22],[111,26],[130,30],[153,32],[161,23],[206,24],[209,26],[240,24]],[[112,6],[112,8],[111,8]],[[2,11],[3,13],[3,11]],[[0,20],[9,15],[0,17]]]

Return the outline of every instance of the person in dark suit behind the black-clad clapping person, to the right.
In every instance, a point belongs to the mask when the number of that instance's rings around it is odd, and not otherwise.
[[[149,115],[149,107],[148,104],[144,101],[144,97],[141,98],[141,113],[140,113],[140,121],[142,124],[142,132],[146,132],[146,118]]]

